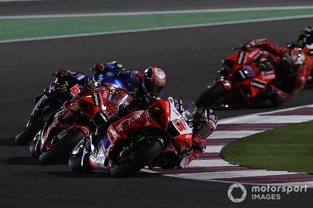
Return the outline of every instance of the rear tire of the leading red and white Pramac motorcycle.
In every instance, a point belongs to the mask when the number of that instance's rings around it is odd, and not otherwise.
[[[90,157],[90,152],[87,152],[84,156],[84,167],[81,166],[81,160],[83,158],[84,151],[80,151],[77,154],[69,157],[69,168],[74,171],[74,172],[90,172],[94,170],[93,167],[90,166],[89,164],[89,157]]]

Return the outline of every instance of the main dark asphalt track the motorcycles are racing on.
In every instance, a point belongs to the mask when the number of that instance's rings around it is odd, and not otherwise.
[[[28,146],[15,146],[14,137],[26,124],[34,106],[33,98],[54,80],[50,72],[58,69],[88,72],[96,62],[111,60],[140,71],[154,65],[167,74],[164,97],[194,100],[215,78],[221,60],[233,53],[232,47],[260,37],[284,45],[295,40],[299,31],[312,22],[313,18],[305,18],[0,44],[0,205],[310,206],[313,190],[283,193],[280,200],[251,200],[251,186],[245,185],[247,198],[236,204],[228,199],[229,183],[142,172],[115,179],[106,171],[74,173],[66,161],[42,166],[30,156]],[[279,109],[312,104],[312,92],[298,92]],[[215,112],[219,119],[224,119],[270,110],[275,109],[261,105]]]

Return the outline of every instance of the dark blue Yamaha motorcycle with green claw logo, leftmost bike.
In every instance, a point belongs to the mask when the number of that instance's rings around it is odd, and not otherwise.
[[[85,73],[58,70],[52,73],[56,76],[49,89],[44,89],[44,94],[38,100],[29,116],[26,128],[15,137],[15,143],[25,145],[31,141],[46,123],[44,118],[59,109],[64,101],[77,95],[79,87],[84,85],[87,75]],[[40,98],[40,99],[39,99]]]

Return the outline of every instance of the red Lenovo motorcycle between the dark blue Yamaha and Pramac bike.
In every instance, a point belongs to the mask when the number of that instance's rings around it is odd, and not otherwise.
[[[115,114],[115,106],[120,103],[114,105],[112,95],[110,89],[84,85],[79,96],[66,101],[52,122],[47,122],[35,136],[30,145],[31,154],[39,157],[42,164],[50,164],[67,155],[84,136],[89,136]]]

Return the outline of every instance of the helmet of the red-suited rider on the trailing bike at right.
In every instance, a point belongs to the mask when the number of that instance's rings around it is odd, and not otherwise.
[[[303,68],[305,61],[305,56],[302,53],[302,50],[298,47],[289,50],[286,52],[283,57],[283,68],[289,75],[294,75],[299,70]]]

